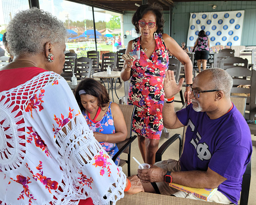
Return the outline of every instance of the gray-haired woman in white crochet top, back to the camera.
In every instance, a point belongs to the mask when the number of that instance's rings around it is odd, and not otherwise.
[[[65,32],[37,8],[7,27],[14,60],[0,71],[0,204],[115,204],[143,191],[95,140],[60,76]]]

